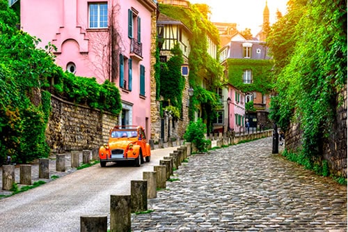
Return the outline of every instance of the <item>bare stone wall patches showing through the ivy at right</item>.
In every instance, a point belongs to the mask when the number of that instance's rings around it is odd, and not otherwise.
[[[347,85],[337,95],[336,117],[331,125],[329,138],[324,139],[323,157],[335,176],[347,178]],[[285,133],[286,148],[292,152],[301,149],[301,128],[291,123]]]

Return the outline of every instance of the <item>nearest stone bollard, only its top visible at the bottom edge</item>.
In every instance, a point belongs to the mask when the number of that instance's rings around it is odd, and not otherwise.
[[[80,217],[81,232],[105,232],[107,229],[107,215],[83,215]]]

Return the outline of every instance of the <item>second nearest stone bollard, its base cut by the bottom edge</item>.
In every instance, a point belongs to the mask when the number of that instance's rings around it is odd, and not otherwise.
[[[131,196],[110,196],[110,231],[131,231]]]

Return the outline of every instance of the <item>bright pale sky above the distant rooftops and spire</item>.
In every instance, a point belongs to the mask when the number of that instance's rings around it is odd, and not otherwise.
[[[261,30],[266,0],[189,0],[190,3],[205,3],[210,6],[211,22],[236,23],[239,31],[251,29],[253,36]],[[276,22],[277,9],[285,15],[288,0],[267,0],[269,22]]]

